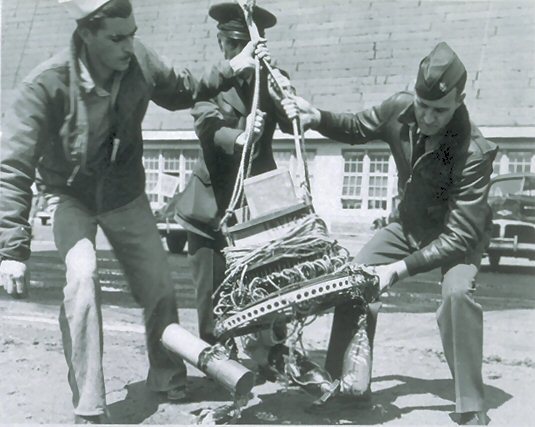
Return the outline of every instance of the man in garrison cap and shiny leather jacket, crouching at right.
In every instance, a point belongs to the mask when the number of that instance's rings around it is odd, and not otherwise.
[[[360,250],[357,264],[374,265],[383,290],[398,280],[440,267],[437,311],[444,354],[455,382],[460,424],[485,424],[481,375],[483,317],[475,278],[489,240],[487,203],[495,144],[485,140],[464,105],[466,70],[444,42],[418,68],[415,93],[401,92],[356,114],[332,113],[302,98],[283,101],[289,117],[330,139],[349,144],[383,140],[398,170],[400,203],[392,222]],[[380,303],[370,306],[373,343]],[[359,315],[351,303],[336,307],[326,360],[334,377]],[[364,399],[371,397],[370,390]]]

